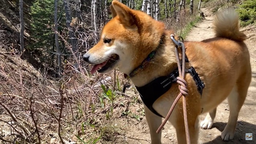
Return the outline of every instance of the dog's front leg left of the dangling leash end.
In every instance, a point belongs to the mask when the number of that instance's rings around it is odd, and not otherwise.
[[[162,118],[152,113],[145,105],[145,116],[150,130],[151,144],[161,144],[162,130],[157,133],[157,129],[162,123]]]

